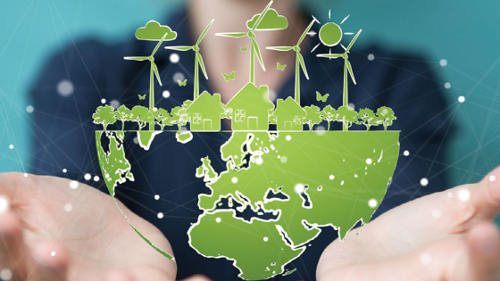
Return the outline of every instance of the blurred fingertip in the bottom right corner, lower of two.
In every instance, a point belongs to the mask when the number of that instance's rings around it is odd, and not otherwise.
[[[467,244],[470,256],[469,280],[500,280],[500,232],[492,223],[473,227]]]

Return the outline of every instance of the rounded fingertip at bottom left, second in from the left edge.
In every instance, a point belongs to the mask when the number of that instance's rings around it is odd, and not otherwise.
[[[64,281],[69,254],[61,244],[38,244],[33,249],[34,271],[30,281]]]

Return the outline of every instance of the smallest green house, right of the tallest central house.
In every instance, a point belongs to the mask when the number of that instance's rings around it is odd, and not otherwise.
[[[279,131],[302,131],[303,119],[306,114],[291,96],[288,96],[284,101],[282,99],[277,101],[273,115],[276,117],[276,128]]]

